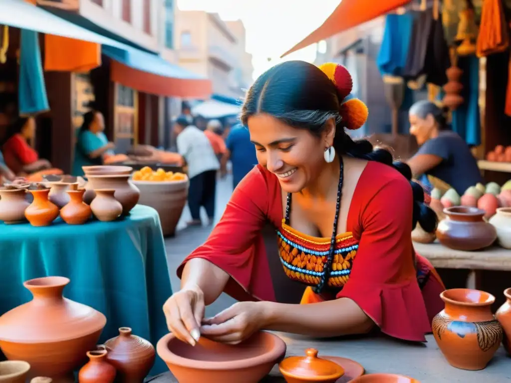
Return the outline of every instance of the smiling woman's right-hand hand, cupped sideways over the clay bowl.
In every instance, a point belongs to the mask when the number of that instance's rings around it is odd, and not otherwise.
[[[205,319],[201,334],[213,341],[238,344],[265,326],[263,302],[238,302],[215,317]]]

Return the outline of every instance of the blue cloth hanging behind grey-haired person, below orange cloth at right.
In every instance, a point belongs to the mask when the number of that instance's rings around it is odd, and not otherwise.
[[[465,102],[452,112],[452,130],[468,145],[481,143],[479,116],[479,59],[475,56],[458,58],[458,67],[463,70],[461,95]]]

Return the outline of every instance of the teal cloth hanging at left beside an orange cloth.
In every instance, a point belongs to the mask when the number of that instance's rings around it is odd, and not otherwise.
[[[19,49],[19,114],[41,113],[50,109],[44,85],[38,33],[21,30]]]

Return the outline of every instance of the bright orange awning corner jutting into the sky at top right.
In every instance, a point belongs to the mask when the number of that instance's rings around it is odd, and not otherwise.
[[[318,41],[332,37],[347,29],[356,27],[366,21],[384,15],[396,8],[402,7],[411,0],[341,0],[341,3],[323,22],[321,27],[312,32],[305,39],[293,46],[281,56],[298,51]]]

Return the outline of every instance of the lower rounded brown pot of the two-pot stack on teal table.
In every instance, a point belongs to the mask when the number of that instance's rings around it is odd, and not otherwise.
[[[129,175],[89,176],[92,189],[114,189],[114,197],[123,205],[123,216],[127,216],[140,198],[140,190],[131,183]]]

